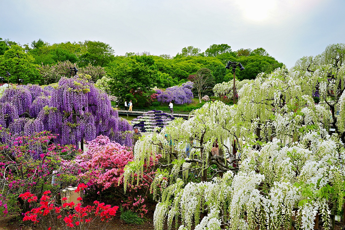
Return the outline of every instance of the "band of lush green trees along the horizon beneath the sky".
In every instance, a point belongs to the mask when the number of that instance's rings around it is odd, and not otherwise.
[[[225,69],[229,60],[245,67],[245,71],[236,70],[239,80],[254,79],[258,73],[270,73],[283,66],[263,48],[233,51],[228,44],[213,44],[204,52],[188,46],[174,57],[149,52],[117,56],[109,44],[100,41],[49,44],[38,39],[31,45],[20,45],[0,38],[0,76],[6,78],[6,71],[10,72],[10,83],[19,83],[19,79],[24,84],[56,83],[62,76],[69,76],[69,67],[77,67],[78,73],[89,74],[95,82],[107,76],[114,96],[131,94],[128,99],[140,104],[145,104],[152,88],[182,84],[201,68],[212,73],[210,89],[216,83],[229,81],[233,78],[233,73]]]

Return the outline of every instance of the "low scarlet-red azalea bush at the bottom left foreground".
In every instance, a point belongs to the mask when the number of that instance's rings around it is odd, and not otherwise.
[[[75,192],[85,189],[85,184],[79,184]],[[80,203],[63,202],[62,206],[57,206],[50,191],[43,192],[43,196],[38,202],[37,196],[30,192],[22,193],[19,197],[31,204],[33,209],[24,213],[23,221],[32,221],[38,223],[45,230],[64,229],[70,230],[76,228],[79,230],[89,229],[90,226],[99,230],[104,230],[108,222],[115,216],[118,206],[111,207],[99,201],[94,201],[93,206],[82,207],[82,198]],[[67,198],[62,198],[66,201]]]

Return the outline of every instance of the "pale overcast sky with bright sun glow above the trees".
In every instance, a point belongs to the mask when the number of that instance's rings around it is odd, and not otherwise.
[[[211,44],[263,47],[292,67],[345,43],[344,0],[0,0],[0,37],[26,44],[96,40],[115,55],[175,56]]]

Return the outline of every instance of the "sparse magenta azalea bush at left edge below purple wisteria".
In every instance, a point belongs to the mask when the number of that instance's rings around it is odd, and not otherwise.
[[[77,182],[67,168],[61,169],[60,162],[72,158],[80,150],[72,145],[51,143],[53,139],[56,136],[50,132],[40,132],[11,137],[10,142],[0,146],[0,186],[3,189],[0,200],[3,207],[4,200],[11,206],[18,201],[22,212],[26,212],[30,206],[18,198],[19,194],[30,192],[41,197],[42,191],[49,189],[56,195]]]

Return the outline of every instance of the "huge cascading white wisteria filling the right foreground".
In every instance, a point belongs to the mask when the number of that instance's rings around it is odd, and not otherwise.
[[[343,56],[344,45],[333,45],[259,74],[236,105],[208,102],[138,141],[124,184],[162,154],[155,229],[313,229],[317,214],[329,228],[345,196]],[[216,142],[219,156],[210,153]]]

